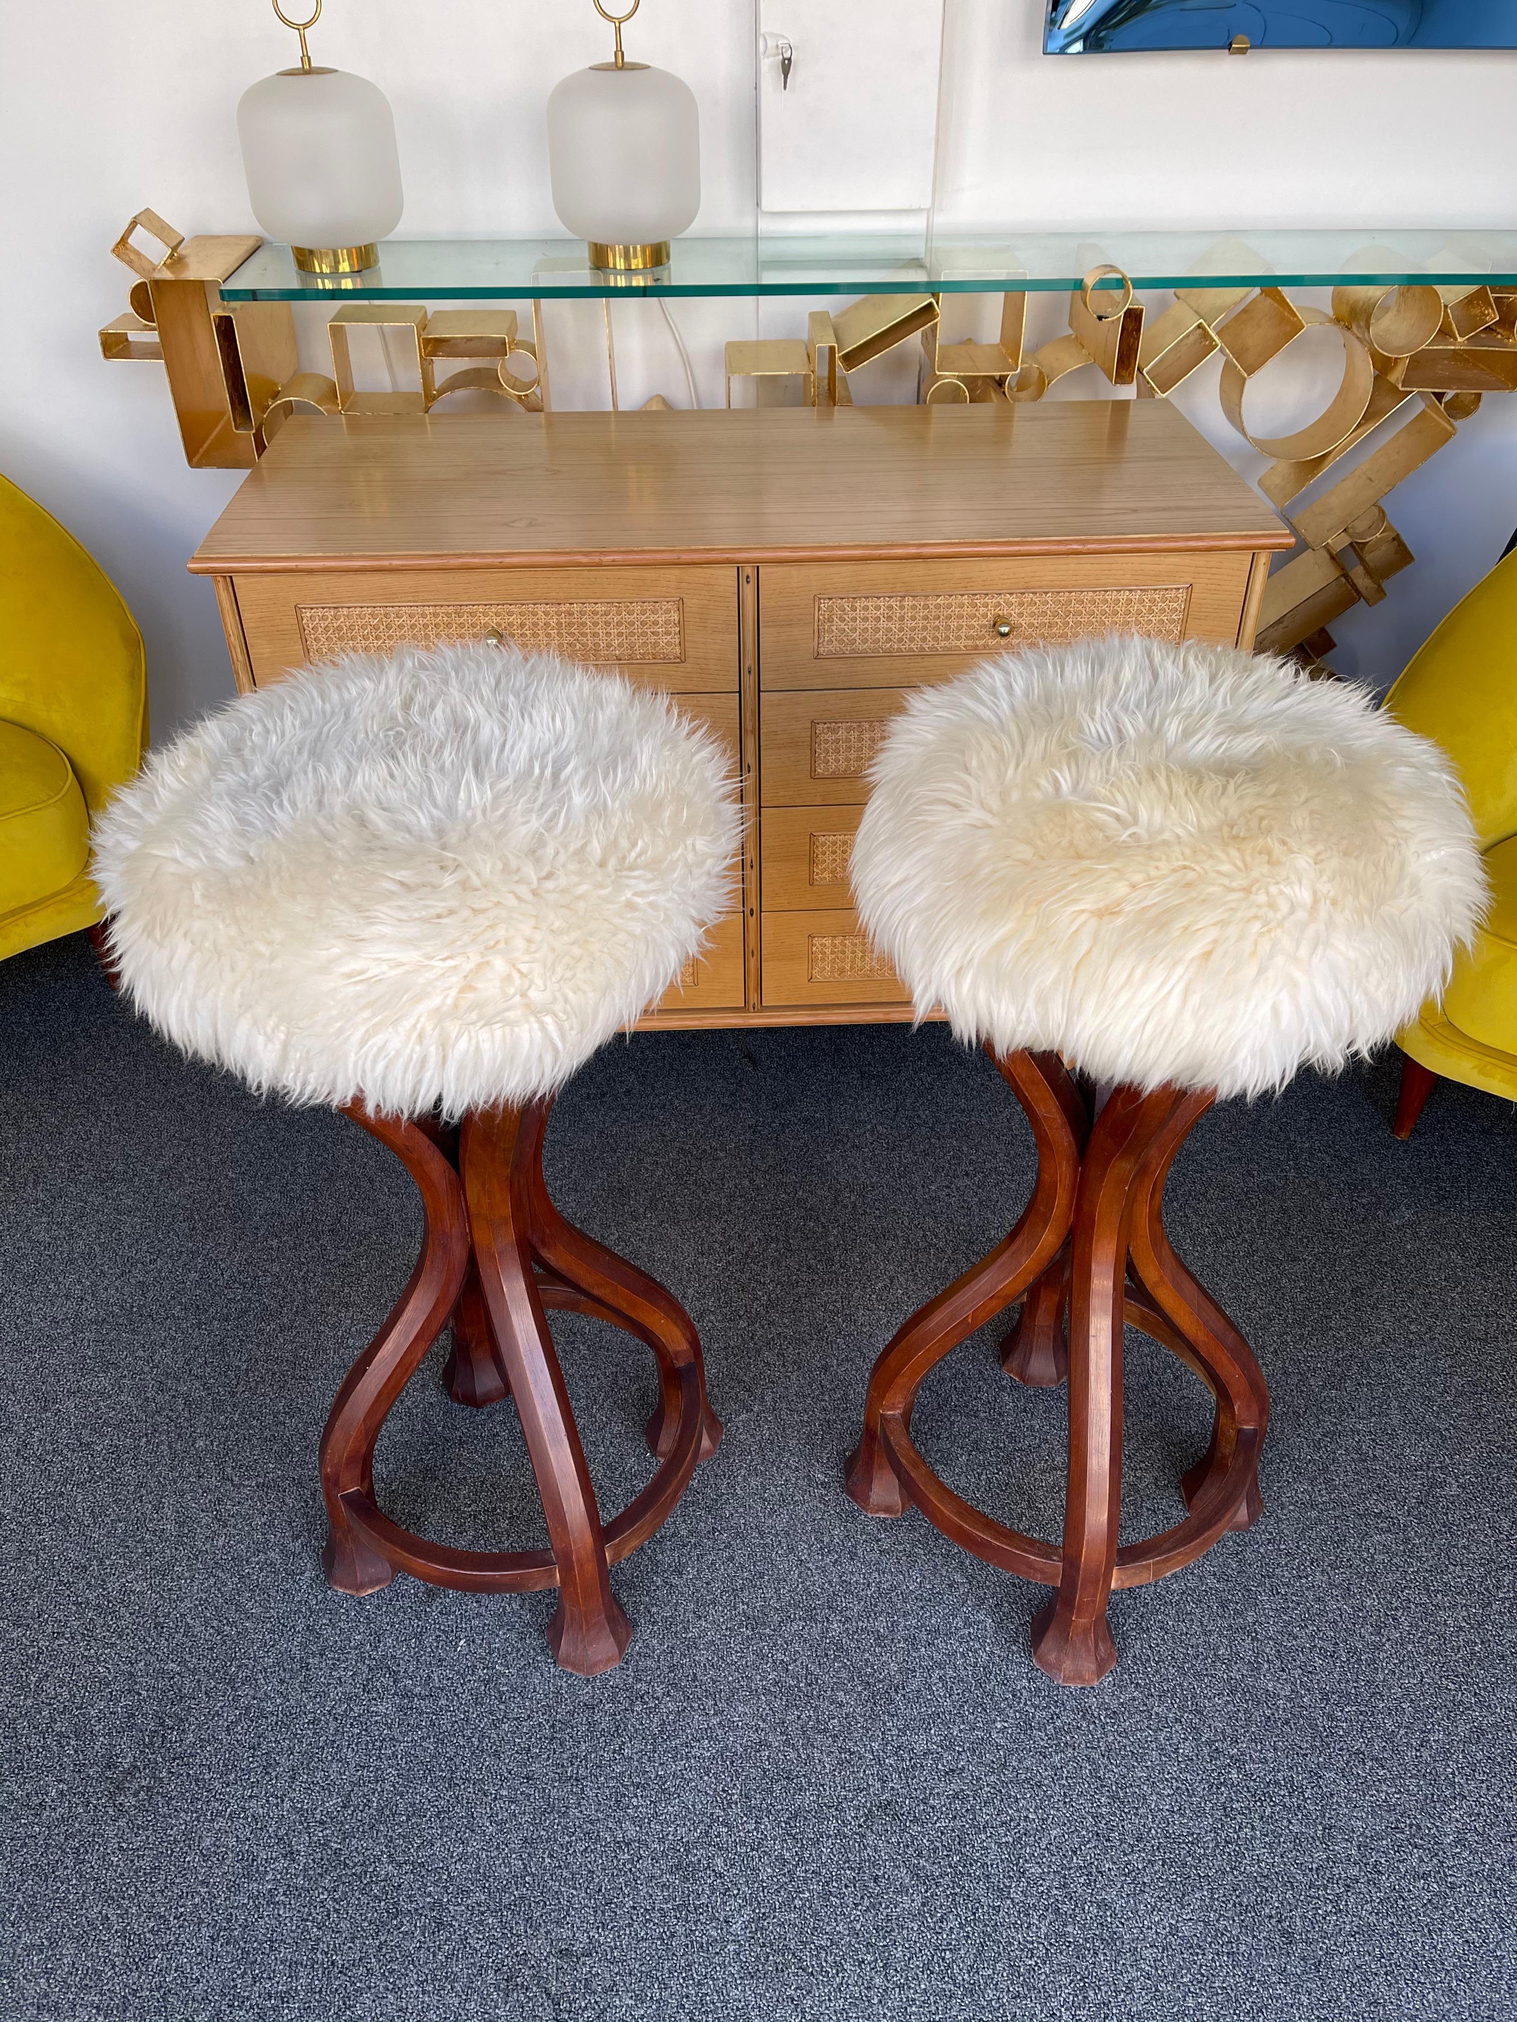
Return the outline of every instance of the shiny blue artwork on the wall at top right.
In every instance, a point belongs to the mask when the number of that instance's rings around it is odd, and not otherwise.
[[[1517,49],[1517,0],[1048,0],[1050,57],[1125,49]]]

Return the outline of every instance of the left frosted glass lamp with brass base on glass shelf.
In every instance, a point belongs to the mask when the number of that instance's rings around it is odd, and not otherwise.
[[[237,107],[253,216],[309,273],[354,273],[400,222],[390,101],[350,71],[279,71]]]

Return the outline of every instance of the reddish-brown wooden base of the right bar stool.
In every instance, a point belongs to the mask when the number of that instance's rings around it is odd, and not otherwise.
[[[1248,1343],[1191,1278],[1163,1227],[1175,1153],[1212,1106],[1181,1088],[1117,1088],[1092,1118],[1056,1053],[997,1060],[1038,1140],[1038,1183],[1015,1229],[906,1320],[870,1377],[847,1492],[872,1516],[916,1504],[965,1551],[1054,1587],[1034,1618],[1034,1662],[1060,1684],[1096,1684],[1117,1662],[1106,1601],[1199,1559],[1262,1512],[1258,1456],[1270,1399]],[[1064,1537],[1025,1537],[957,1496],[916,1452],[912,1405],[928,1371],[1015,1300],[1003,1363],[1070,1391]],[[1123,1326],[1177,1355],[1214,1395],[1212,1442],[1183,1476],[1187,1516],[1119,1545]]]

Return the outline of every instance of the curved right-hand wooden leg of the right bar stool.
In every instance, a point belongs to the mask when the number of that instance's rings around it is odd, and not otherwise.
[[[1228,1529],[1246,1531],[1264,1514],[1258,1492],[1258,1454],[1270,1423],[1270,1393],[1254,1351],[1189,1270],[1179,1262],[1163,1225],[1163,1189],[1175,1153],[1212,1108],[1206,1092],[1187,1094],[1153,1140],[1133,1187],[1129,1254],[1133,1276],[1179,1337],[1155,1337],[1210,1385],[1216,1397],[1212,1440],[1201,1460],[1181,1476],[1187,1506],[1195,1506],[1228,1474],[1240,1442],[1252,1454],[1242,1500]],[[1135,1314],[1143,1324],[1143,1314]]]

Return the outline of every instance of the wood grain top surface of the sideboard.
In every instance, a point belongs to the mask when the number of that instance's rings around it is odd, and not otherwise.
[[[190,568],[1288,546],[1284,522],[1167,400],[1062,400],[297,419]]]

